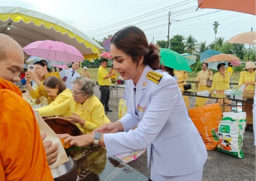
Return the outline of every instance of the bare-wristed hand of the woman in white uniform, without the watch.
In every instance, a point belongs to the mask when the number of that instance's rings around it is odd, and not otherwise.
[[[96,128],[93,132],[101,132],[101,133],[116,133],[117,131],[124,131],[123,124],[120,121],[116,121],[115,123],[106,123]]]

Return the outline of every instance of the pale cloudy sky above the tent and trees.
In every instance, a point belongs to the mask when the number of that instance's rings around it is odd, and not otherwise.
[[[255,31],[254,15],[234,11],[199,9],[195,0],[1,0],[0,6],[23,7],[53,16],[102,40],[128,25],[141,28],[148,41],[167,40],[169,11],[170,38],[192,35],[207,45],[215,40],[212,23],[219,21],[216,37],[224,40],[238,33]]]

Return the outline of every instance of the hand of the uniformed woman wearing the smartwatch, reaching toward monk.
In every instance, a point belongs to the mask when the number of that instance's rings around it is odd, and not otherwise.
[[[69,134],[61,134],[61,135],[58,134],[57,136],[60,140],[65,139],[64,144],[69,142],[70,145],[85,147],[93,144],[94,134],[86,134],[82,136],[70,136]]]

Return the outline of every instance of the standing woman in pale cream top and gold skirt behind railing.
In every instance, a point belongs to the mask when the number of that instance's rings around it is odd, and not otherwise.
[[[202,71],[198,72],[198,76],[196,77],[196,82],[199,83],[198,86],[198,92],[199,91],[208,91],[211,92],[211,87],[207,87],[207,79],[213,80],[213,74],[211,70],[207,70],[208,68],[208,63],[202,63]],[[207,101],[207,98],[202,98],[202,97],[196,97],[196,103],[195,106],[203,106],[204,103]]]

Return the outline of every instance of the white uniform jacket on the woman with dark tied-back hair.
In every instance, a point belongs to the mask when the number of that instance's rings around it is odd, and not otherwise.
[[[147,148],[148,167],[153,155],[154,173],[163,176],[194,173],[207,160],[203,140],[188,116],[174,78],[156,70],[163,75],[156,84],[146,77],[149,71],[153,70],[146,66],[136,87],[132,80],[128,81],[128,113],[119,120],[124,132],[104,134],[107,152],[114,156]]]

